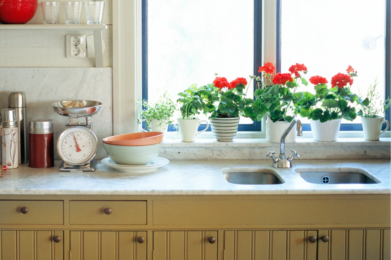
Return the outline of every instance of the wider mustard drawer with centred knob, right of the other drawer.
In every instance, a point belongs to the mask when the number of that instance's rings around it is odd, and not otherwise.
[[[70,224],[147,224],[147,201],[70,201],[69,208]]]

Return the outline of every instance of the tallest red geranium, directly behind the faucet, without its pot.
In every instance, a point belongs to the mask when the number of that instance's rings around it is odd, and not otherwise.
[[[256,98],[253,110],[258,113],[256,120],[260,121],[265,114],[273,121],[285,120],[291,122],[294,116],[294,104],[301,101],[303,93],[296,93],[300,84],[308,85],[303,75],[307,73],[304,64],[296,63],[289,68],[289,73],[277,73],[273,77],[274,65],[266,62],[259,67],[258,72],[264,72],[258,81],[254,93]]]

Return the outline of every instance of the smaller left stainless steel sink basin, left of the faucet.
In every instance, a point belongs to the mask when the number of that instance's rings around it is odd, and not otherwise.
[[[284,183],[276,171],[268,168],[226,168],[221,171],[226,180],[234,184],[268,185]]]

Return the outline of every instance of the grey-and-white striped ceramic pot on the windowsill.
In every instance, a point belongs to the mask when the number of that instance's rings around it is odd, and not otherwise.
[[[232,142],[239,126],[239,116],[236,118],[211,118],[212,134],[220,142]]]

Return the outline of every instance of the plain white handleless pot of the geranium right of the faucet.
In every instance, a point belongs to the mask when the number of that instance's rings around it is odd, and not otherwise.
[[[315,141],[337,141],[341,119],[334,119],[321,123],[319,120],[310,120],[312,137]]]

